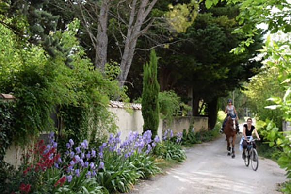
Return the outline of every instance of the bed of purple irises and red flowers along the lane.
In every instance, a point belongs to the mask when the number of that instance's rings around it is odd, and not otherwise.
[[[54,133],[49,144],[41,140],[22,157],[17,170],[1,167],[1,194],[75,194],[129,192],[141,178],[161,172],[157,157],[179,162],[186,159],[180,146],[182,134],[167,130],[160,141],[151,139],[151,131],[143,135],[129,132],[121,142],[120,133],[110,134],[99,147],[89,147],[83,140],[73,140],[58,153]],[[9,172],[9,173],[8,173]]]

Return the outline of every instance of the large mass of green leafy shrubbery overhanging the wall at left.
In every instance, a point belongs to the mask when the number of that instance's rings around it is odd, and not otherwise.
[[[80,141],[91,128],[96,135],[116,129],[115,117],[106,106],[116,95],[127,101],[124,89],[113,80],[118,69],[107,66],[103,74],[94,70],[75,37],[78,26],[75,20],[65,32],[53,35],[63,48],[71,50],[69,68],[64,53],[52,58],[38,46],[17,41],[0,25],[0,48],[4,50],[0,54],[0,91],[16,96],[13,131],[18,144],[29,135],[51,129],[50,113],[56,107],[59,120],[65,124],[58,135],[65,140]]]

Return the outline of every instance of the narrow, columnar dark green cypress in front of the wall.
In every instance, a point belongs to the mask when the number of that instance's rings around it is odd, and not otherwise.
[[[158,59],[154,50],[150,53],[149,65],[144,65],[144,81],[142,94],[142,114],[144,118],[144,132],[152,131],[154,138],[158,134],[159,127],[159,91],[160,85],[157,79]]]

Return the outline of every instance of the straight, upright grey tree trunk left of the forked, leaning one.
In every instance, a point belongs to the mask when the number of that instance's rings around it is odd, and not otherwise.
[[[95,50],[95,67],[104,70],[105,64],[107,62],[107,46],[108,46],[108,36],[107,36],[107,20],[109,12],[109,1],[102,0],[100,14],[98,18],[98,34],[97,43]]]

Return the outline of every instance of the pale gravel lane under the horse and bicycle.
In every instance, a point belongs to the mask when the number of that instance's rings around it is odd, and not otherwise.
[[[135,186],[131,194],[280,194],[277,183],[285,171],[267,159],[259,159],[255,172],[246,167],[236,141],[236,157],[227,156],[225,136],[187,149],[187,161],[167,175]]]

